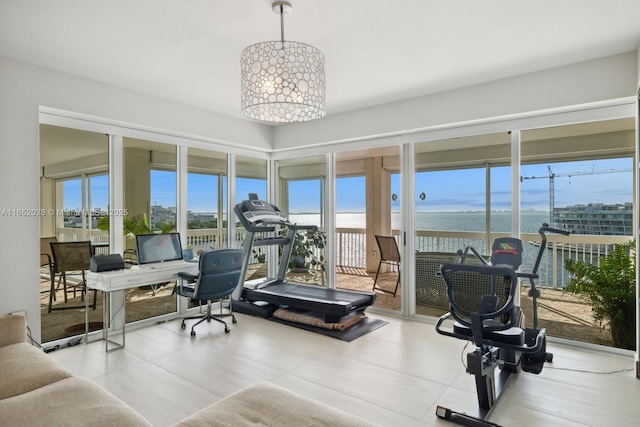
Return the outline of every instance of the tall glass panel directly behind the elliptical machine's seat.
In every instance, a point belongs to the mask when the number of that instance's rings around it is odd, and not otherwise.
[[[415,144],[416,313],[448,310],[440,264],[466,247],[487,257],[491,241],[510,234],[510,143],[502,132]]]

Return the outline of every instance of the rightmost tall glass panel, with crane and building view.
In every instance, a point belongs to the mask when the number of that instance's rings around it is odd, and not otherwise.
[[[635,151],[633,119],[610,120],[522,132],[521,236],[525,244],[524,269],[532,268],[540,249],[536,231],[541,222],[565,230],[568,236],[549,234],[539,267],[537,285],[539,327],[550,336],[613,345],[607,315],[594,320],[598,307],[587,294],[567,292],[570,275],[567,259],[594,266],[614,244],[633,239],[633,165]],[[538,223],[528,224],[527,213]],[[621,274],[622,278],[623,275]],[[620,304],[635,301],[634,286],[616,289],[602,283],[597,301],[613,316]],[[528,286],[521,296],[525,313],[531,310]],[[600,303],[596,303],[600,304]],[[594,307],[596,310],[594,310]]]

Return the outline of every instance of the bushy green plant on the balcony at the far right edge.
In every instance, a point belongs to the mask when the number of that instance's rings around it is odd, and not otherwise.
[[[613,345],[629,350],[636,348],[635,248],[635,240],[614,245],[597,264],[565,260],[565,269],[572,275],[566,290],[586,296],[593,318],[609,324]]]

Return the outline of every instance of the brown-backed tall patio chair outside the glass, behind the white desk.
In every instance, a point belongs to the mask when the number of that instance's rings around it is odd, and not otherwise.
[[[85,308],[84,306],[72,306],[72,307],[53,307],[53,301],[55,299],[55,292],[62,284],[64,292],[64,302],[68,301],[67,293],[73,292],[73,296],[76,296],[76,290],[80,288],[81,300],[84,301],[84,296],[87,293],[87,280],[85,277],[85,271],[89,270],[91,257],[93,256],[93,250],[91,248],[91,242],[49,242],[51,247],[51,254],[53,256],[53,264],[50,265],[51,272],[53,273],[51,279],[51,289],[49,291],[49,309],[51,313],[53,310],[67,310],[71,308]],[[58,287],[54,287],[55,280],[53,277],[58,276]],[[80,276],[79,281],[71,281],[69,275]],[[67,287],[70,287],[68,289]],[[93,304],[91,307],[96,309],[97,291],[93,290]]]

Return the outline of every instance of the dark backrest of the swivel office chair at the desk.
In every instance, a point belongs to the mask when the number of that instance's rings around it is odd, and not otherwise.
[[[242,250],[214,249],[200,254],[200,274],[193,299],[209,301],[230,295],[240,282]]]

